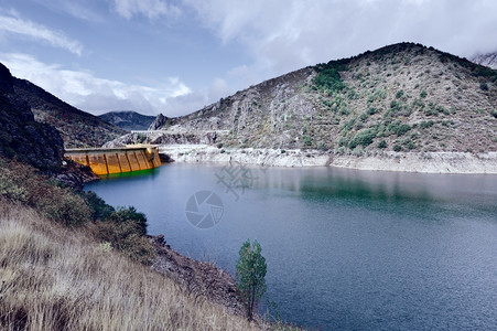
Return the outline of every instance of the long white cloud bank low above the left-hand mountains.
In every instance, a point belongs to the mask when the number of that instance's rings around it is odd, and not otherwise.
[[[177,77],[169,77],[151,87],[96,77],[90,72],[65,70],[58,64],[42,63],[28,54],[0,53],[0,62],[10,68],[12,75],[28,79],[62,100],[93,114],[130,109],[142,114],[177,116],[196,110],[187,109],[188,105],[201,104],[198,96]],[[192,96],[184,98],[188,95]],[[175,100],[177,98],[188,103],[179,103]]]

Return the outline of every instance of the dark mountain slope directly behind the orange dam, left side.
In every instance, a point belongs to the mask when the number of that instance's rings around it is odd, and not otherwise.
[[[30,106],[36,121],[52,125],[61,132],[66,148],[100,147],[126,134],[123,129],[64,103],[29,81],[13,78],[13,88]]]

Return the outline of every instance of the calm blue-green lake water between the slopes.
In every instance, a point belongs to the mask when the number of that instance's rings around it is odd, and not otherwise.
[[[231,191],[228,172],[245,179]],[[257,239],[267,297],[283,320],[321,330],[497,330],[497,175],[173,163],[86,190],[136,206],[149,233],[231,274],[241,244]],[[185,213],[199,191],[223,203],[209,228]],[[197,214],[209,212],[203,203]]]

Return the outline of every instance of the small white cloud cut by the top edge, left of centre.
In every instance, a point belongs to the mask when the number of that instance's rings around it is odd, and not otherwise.
[[[125,19],[133,15],[144,15],[148,19],[160,17],[175,17],[181,13],[176,6],[168,4],[162,0],[112,0],[115,10]]]

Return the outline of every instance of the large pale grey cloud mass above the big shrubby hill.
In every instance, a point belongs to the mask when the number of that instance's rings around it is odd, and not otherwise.
[[[261,79],[402,41],[462,56],[497,51],[491,0],[184,0]],[[253,82],[255,83],[255,82]]]

